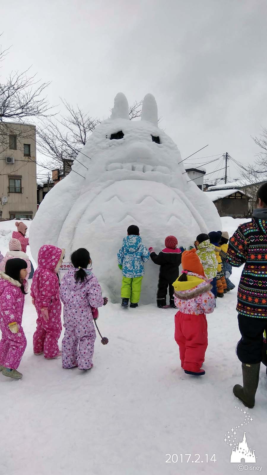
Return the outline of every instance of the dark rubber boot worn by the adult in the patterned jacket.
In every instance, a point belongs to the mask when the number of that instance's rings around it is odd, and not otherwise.
[[[234,395],[249,409],[255,406],[255,394],[258,387],[260,363],[242,363],[243,387],[236,384],[233,387]]]

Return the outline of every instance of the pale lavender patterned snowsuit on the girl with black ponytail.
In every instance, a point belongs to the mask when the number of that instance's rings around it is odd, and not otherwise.
[[[64,304],[65,334],[62,340],[63,368],[92,368],[95,343],[95,325],[92,307],[104,304],[101,287],[94,274],[87,270],[87,280],[75,283],[75,272],[69,269],[60,285],[60,298]],[[85,269],[86,270],[86,269]]]

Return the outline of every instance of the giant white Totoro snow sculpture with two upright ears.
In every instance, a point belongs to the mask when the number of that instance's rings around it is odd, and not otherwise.
[[[172,234],[182,246],[200,232],[220,229],[213,203],[189,177],[172,139],[158,128],[153,95],[144,97],[141,121],[130,121],[119,93],[111,117],[97,126],[72,166],[39,206],[30,227],[31,252],[43,244],[78,247],[92,256],[95,275],[113,302],[120,300],[116,255],[130,224],[159,252]],[[67,260],[67,258],[66,258]],[[158,269],[145,264],[141,302],[155,301]]]

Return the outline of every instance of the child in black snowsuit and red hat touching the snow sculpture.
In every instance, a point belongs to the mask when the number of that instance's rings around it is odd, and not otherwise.
[[[157,305],[159,308],[176,308],[174,304],[173,282],[179,277],[179,266],[181,264],[181,249],[177,248],[178,241],[175,236],[167,236],[165,239],[165,249],[156,254],[153,247],[149,247],[150,257],[155,264],[160,266]],[[169,287],[170,305],[166,305],[166,296]]]

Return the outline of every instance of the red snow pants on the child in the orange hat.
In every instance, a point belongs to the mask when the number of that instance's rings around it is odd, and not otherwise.
[[[199,371],[208,346],[206,315],[177,312],[174,323],[174,339],[179,345],[181,367],[186,371]]]

